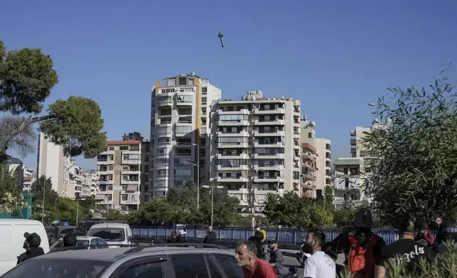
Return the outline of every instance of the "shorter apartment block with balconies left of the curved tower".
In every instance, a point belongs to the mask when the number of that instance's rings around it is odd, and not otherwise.
[[[124,212],[140,206],[141,147],[141,140],[106,141],[97,157],[96,204]]]

